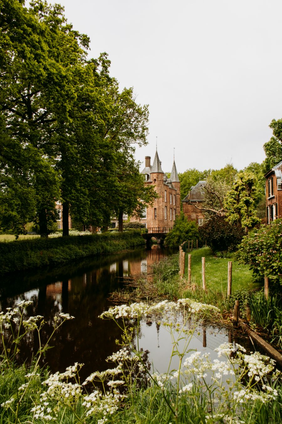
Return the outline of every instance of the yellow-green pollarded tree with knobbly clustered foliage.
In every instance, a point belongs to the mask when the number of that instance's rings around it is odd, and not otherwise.
[[[245,228],[245,232],[260,222],[255,215],[255,206],[260,198],[256,183],[257,179],[253,173],[240,172],[225,197],[227,220],[238,228]]]

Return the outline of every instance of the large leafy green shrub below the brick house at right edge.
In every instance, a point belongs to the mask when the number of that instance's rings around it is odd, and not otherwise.
[[[282,220],[250,232],[243,238],[237,257],[258,277],[267,276],[274,285],[282,285]]]

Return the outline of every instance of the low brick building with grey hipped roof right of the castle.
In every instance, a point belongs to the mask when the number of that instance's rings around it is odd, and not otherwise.
[[[195,204],[201,204],[204,200],[203,186],[206,181],[199,181],[195,186],[192,186],[187,196],[182,200],[183,213],[189,221],[196,221],[198,225],[203,224],[204,215],[200,209],[197,209]]]

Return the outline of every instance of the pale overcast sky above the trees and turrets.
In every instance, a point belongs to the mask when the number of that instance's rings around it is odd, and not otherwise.
[[[55,3],[52,1],[52,3]],[[282,118],[281,0],[58,0],[90,56],[107,52],[120,88],[148,104],[162,168],[262,162]]]

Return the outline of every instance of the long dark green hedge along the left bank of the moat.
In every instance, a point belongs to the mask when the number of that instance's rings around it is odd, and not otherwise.
[[[145,240],[139,231],[0,243],[0,274],[63,265],[84,257],[110,254],[143,244]]]

